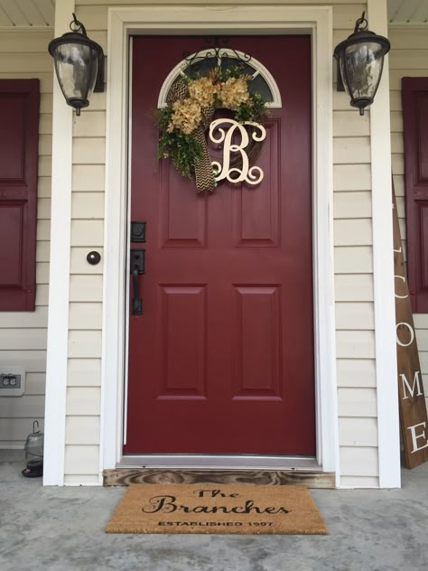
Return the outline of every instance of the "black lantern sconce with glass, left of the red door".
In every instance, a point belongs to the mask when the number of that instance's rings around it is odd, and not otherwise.
[[[67,105],[87,108],[92,91],[104,91],[104,52],[99,43],[88,38],[85,26],[73,14],[69,33],[49,44],[60,89]]]

